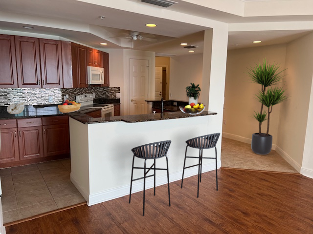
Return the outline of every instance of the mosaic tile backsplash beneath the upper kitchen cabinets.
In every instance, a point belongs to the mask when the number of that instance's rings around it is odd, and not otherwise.
[[[23,102],[25,105],[59,104],[63,102],[63,96],[75,100],[76,95],[95,93],[95,98],[116,98],[119,87],[92,87],[74,89],[0,89],[0,106]],[[52,102],[49,102],[49,96]]]

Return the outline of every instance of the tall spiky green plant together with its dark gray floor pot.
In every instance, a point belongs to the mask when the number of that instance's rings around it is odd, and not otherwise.
[[[273,106],[287,100],[284,95],[285,90],[279,87],[269,88],[268,86],[280,83],[284,77],[283,71],[279,71],[279,64],[268,64],[264,59],[263,64],[259,62],[254,68],[250,67],[247,71],[250,81],[261,84],[261,91],[256,94],[256,100],[261,103],[261,111],[254,112],[253,117],[259,122],[259,133],[252,134],[251,149],[254,153],[259,155],[267,155],[272,149],[273,138],[268,134],[269,131],[269,117],[272,113]],[[263,111],[263,107],[268,108]],[[268,120],[267,133],[261,133],[262,122]]]

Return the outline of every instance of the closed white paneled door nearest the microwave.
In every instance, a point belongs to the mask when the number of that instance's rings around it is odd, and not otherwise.
[[[130,114],[147,114],[148,60],[130,59]]]

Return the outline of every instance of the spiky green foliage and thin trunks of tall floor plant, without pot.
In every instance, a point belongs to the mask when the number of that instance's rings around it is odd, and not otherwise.
[[[282,88],[270,88],[266,90],[268,86],[276,85],[282,81],[285,75],[283,72],[286,70],[279,71],[280,65],[277,63],[268,64],[266,59],[264,59],[263,64],[259,62],[255,67],[248,69],[247,74],[250,81],[253,83],[261,84],[261,91],[256,95],[257,101],[261,102],[261,111],[254,112],[253,117],[259,122],[259,135],[261,135],[261,125],[262,122],[268,120],[268,130],[269,130],[269,115],[272,112],[273,105],[281,103],[287,100],[284,96],[285,90]],[[263,106],[268,107],[268,111],[263,111]],[[270,109],[270,110],[269,110]]]

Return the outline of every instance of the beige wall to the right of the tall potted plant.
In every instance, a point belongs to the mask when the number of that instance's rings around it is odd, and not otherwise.
[[[299,167],[302,165],[312,86],[312,41],[313,33],[287,44],[285,87],[290,98],[281,104],[277,135],[277,146]]]

